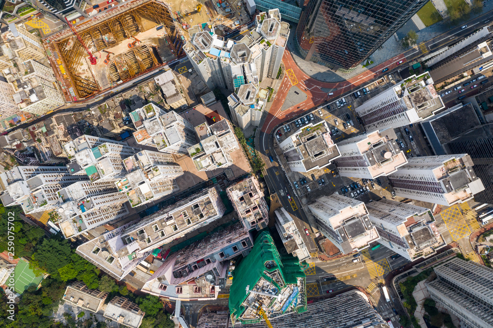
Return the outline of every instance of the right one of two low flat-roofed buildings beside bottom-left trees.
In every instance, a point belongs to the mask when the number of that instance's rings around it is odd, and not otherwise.
[[[115,296],[110,300],[104,314],[105,318],[130,328],[139,328],[144,315],[145,312],[136,303],[122,296]]]

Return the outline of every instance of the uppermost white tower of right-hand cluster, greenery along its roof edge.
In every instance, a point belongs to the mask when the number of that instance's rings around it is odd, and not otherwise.
[[[445,108],[427,72],[413,75],[406,81],[363,102],[354,110],[366,131],[399,128],[422,121]]]

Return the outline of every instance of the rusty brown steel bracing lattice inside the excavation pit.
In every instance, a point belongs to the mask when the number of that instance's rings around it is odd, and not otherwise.
[[[112,10],[107,15],[96,16],[74,29],[87,48],[96,53],[111,48],[137,33],[146,31],[142,18],[163,25],[171,40],[176,56],[183,54],[183,38],[178,32],[170,9],[158,0],[135,0]],[[90,25],[93,24],[93,25]],[[91,74],[85,57],[87,53],[77,42],[70,29],[65,29],[45,39],[53,42],[56,51],[65,64],[68,78],[78,98],[87,98],[99,93],[100,86]],[[121,61],[118,63],[118,61]],[[126,81],[159,64],[152,47],[141,45],[124,54],[115,56],[108,63],[108,78],[111,82]],[[86,73],[86,74],[83,74]],[[83,76],[80,76],[83,75]]]

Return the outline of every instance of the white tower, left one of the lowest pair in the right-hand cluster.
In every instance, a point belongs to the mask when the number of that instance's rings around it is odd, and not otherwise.
[[[317,198],[308,208],[318,230],[343,254],[361,250],[380,239],[362,201],[332,194]]]

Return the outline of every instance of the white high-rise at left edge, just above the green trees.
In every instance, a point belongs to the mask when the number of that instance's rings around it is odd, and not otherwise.
[[[0,174],[0,199],[4,206],[21,205],[25,214],[53,209],[60,189],[88,181],[87,175],[72,176],[66,167],[16,166]]]

